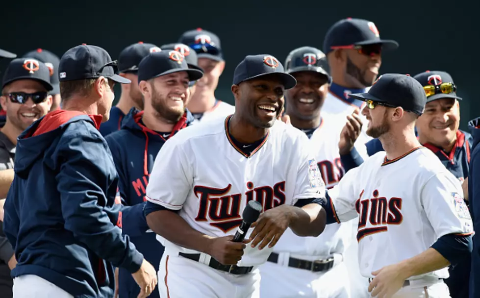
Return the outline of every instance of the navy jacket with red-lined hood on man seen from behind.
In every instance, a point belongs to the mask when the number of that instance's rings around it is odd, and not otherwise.
[[[112,297],[113,266],[140,269],[142,254],[116,226],[118,178],[99,120],[58,110],[19,136],[3,224],[18,261],[12,277],[34,274],[75,297]]]

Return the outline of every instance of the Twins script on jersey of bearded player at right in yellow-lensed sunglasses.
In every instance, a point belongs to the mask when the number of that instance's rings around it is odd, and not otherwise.
[[[379,191],[373,191],[373,198],[362,199],[364,191],[360,193],[360,198],[355,202],[358,217],[357,241],[363,237],[388,231],[389,224],[401,224],[402,198],[379,197]],[[366,226],[369,227],[366,227]]]

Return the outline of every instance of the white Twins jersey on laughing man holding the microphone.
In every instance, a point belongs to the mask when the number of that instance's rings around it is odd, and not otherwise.
[[[265,141],[247,157],[229,138],[229,118],[192,125],[170,138],[155,159],[147,200],[180,210],[179,215],[194,229],[222,237],[235,234],[250,200],[268,210],[325,196],[317,162],[302,131],[276,121]],[[167,254],[198,253],[161,236],[157,239]],[[260,265],[271,251],[247,246],[238,266]]]

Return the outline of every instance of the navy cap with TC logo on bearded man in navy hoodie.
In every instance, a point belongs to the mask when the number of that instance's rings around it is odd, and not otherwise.
[[[189,68],[185,57],[176,50],[153,52],[140,62],[138,82],[178,72],[187,72],[190,81],[198,80],[203,76],[201,71]]]

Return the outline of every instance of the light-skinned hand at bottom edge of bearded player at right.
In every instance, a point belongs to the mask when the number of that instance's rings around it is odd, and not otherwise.
[[[404,285],[408,277],[398,264],[388,265],[372,272],[375,278],[368,286],[372,297],[390,298]]]

